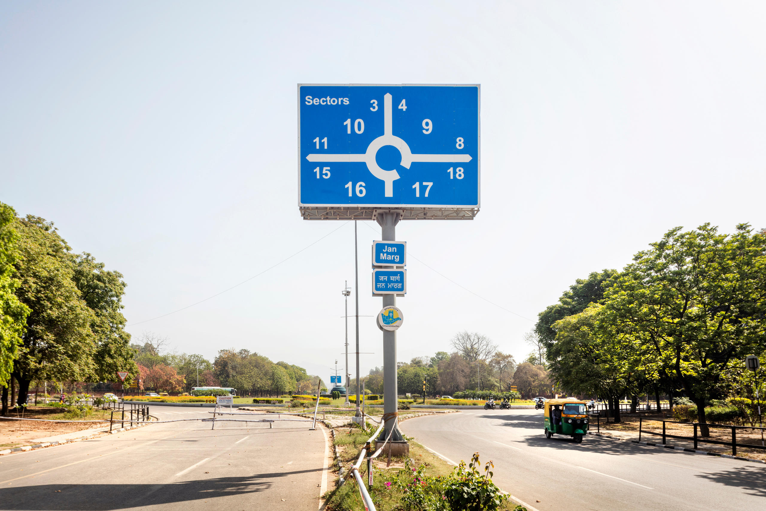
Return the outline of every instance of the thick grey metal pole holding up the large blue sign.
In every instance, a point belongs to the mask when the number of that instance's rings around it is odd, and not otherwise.
[[[377,220],[381,226],[381,240],[396,240],[396,224],[399,223],[399,213],[378,213]],[[383,295],[383,306],[396,305],[396,295]],[[394,427],[395,413],[398,410],[398,387],[396,377],[396,331],[383,331],[383,412],[388,414],[382,438],[388,437]],[[399,428],[391,434],[394,442],[404,440]]]

